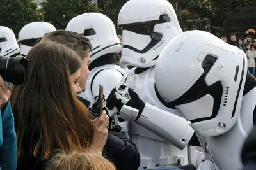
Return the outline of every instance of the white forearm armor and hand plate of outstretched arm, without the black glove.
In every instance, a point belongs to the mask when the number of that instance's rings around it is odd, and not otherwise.
[[[147,103],[141,115],[138,115],[138,110],[124,105],[120,110],[120,118],[135,121],[180,149],[188,144],[194,133],[194,130],[189,126],[190,122],[186,121],[185,118]]]

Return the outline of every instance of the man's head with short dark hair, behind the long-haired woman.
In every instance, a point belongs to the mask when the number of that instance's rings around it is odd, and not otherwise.
[[[74,50],[82,59],[81,66],[81,80],[79,85],[82,91],[85,90],[86,81],[90,74],[88,66],[90,64],[90,55],[92,53],[92,45],[90,40],[83,34],[78,34],[72,31],[57,30],[53,31],[45,36],[42,41],[54,41],[62,45],[67,46]]]

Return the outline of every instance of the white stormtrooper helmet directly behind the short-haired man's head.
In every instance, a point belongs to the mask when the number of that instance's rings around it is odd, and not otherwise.
[[[102,13],[84,13],[72,18],[66,30],[84,34],[92,43],[91,63],[107,53],[122,49],[113,22]]]

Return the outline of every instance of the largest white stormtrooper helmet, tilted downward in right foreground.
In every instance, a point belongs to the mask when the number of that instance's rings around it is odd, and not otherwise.
[[[159,56],[155,83],[161,99],[174,104],[200,136],[217,136],[237,120],[246,72],[243,50],[209,32],[187,31]]]

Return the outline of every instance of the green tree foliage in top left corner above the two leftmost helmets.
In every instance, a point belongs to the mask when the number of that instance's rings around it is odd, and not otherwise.
[[[9,27],[15,35],[29,22],[42,20],[42,13],[33,0],[0,0],[0,25]]]

